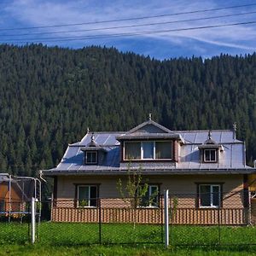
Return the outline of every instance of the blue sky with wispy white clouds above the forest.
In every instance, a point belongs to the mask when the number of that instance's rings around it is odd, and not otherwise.
[[[230,8],[241,5],[249,6]],[[223,26],[237,23],[244,24]],[[218,27],[195,29],[202,26]],[[100,45],[159,60],[252,54],[256,0],[0,1],[0,44],[31,43]]]

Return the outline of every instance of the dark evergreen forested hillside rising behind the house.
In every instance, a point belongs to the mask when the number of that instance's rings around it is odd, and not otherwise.
[[[0,46],[0,172],[35,175],[90,131],[153,114],[171,130],[230,129],[256,159],[256,55],[156,61],[116,49]]]

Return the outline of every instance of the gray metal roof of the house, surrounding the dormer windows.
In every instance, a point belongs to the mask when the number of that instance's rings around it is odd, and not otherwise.
[[[154,121],[144,122],[138,125],[137,129],[128,132],[94,132],[96,144],[104,148],[106,152],[104,157],[97,165],[84,165],[84,147],[88,147],[91,141],[91,133],[88,132],[79,143],[68,145],[66,153],[61,159],[61,163],[53,169],[44,170],[46,175],[57,174],[109,174],[121,173],[127,171],[126,164],[120,164],[120,148],[117,137],[131,137],[132,133],[143,133],[144,137],[155,137],[158,132],[165,133],[166,137],[182,138],[178,161],[170,164],[168,162],[154,162],[149,164],[142,162],[143,173],[249,173],[255,172],[255,169],[245,164],[244,143],[234,138],[234,132],[230,130],[213,130],[212,140],[222,149],[219,153],[218,163],[201,163],[200,145],[205,143],[208,138],[208,131],[170,131],[163,130],[163,126],[155,125]],[[161,133],[160,132],[160,133]],[[135,165],[132,168],[137,168]]]

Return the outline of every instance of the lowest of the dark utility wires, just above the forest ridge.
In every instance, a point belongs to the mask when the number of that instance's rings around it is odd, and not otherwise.
[[[62,38],[40,38],[40,39],[28,39],[28,41],[20,42],[21,39],[15,39],[13,41],[19,41],[19,43],[6,43],[6,44],[29,44],[29,43],[39,43],[39,42],[65,42],[65,41],[76,41],[76,40],[83,40],[83,39],[100,39],[100,38],[119,38],[119,37],[132,37],[132,36],[140,36],[146,34],[156,34],[156,33],[165,33],[165,32],[180,32],[180,31],[189,31],[189,30],[199,30],[199,29],[208,29],[208,28],[215,28],[215,27],[224,27],[224,26],[239,26],[239,25],[253,25],[256,24],[256,20],[253,21],[246,21],[246,22],[236,22],[230,24],[219,24],[219,25],[212,25],[212,26],[192,26],[192,27],[185,27],[185,28],[176,28],[176,29],[166,29],[166,30],[158,30],[158,31],[144,31],[144,32],[127,32],[127,33],[117,33],[117,34],[109,34],[109,35],[90,35],[90,36],[80,36],[80,37],[62,37]],[[30,40],[30,41],[29,41]],[[11,40],[10,40],[11,41]],[[1,40],[1,42],[5,42]]]

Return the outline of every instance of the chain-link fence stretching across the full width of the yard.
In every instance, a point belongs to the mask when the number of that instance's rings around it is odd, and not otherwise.
[[[172,246],[256,245],[256,201],[244,191],[201,188],[171,194],[168,201]],[[164,242],[164,200],[101,198],[36,201],[36,242],[87,245]],[[33,208],[33,209],[34,209]],[[167,208],[166,208],[167,209]],[[0,198],[0,243],[32,241],[32,202]]]

